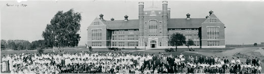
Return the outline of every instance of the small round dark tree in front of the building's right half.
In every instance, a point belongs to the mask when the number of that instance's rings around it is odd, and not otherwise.
[[[169,38],[169,43],[171,46],[176,47],[177,52],[177,46],[182,46],[183,44],[186,44],[186,38],[181,33],[173,33]]]

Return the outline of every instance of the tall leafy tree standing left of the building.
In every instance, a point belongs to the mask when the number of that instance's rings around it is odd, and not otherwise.
[[[42,37],[48,46],[54,47],[76,47],[80,41],[81,14],[75,13],[73,9],[64,12],[58,11],[47,24]]]

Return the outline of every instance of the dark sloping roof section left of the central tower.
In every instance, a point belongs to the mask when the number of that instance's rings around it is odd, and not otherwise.
[[[102,21],[106,24],[108,29],[139,29],[139,20],[113,20],[113,21]]]

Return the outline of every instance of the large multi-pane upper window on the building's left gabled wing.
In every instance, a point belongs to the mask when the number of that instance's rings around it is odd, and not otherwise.
[[[102,40],[102,29],[92,30],[92,40]]]

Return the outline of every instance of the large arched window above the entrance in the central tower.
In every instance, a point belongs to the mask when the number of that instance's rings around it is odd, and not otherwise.
[[[157,21],[156,20],[150,20],[148,22],[149,24],[149,33],[156,33],[157,32]]]

